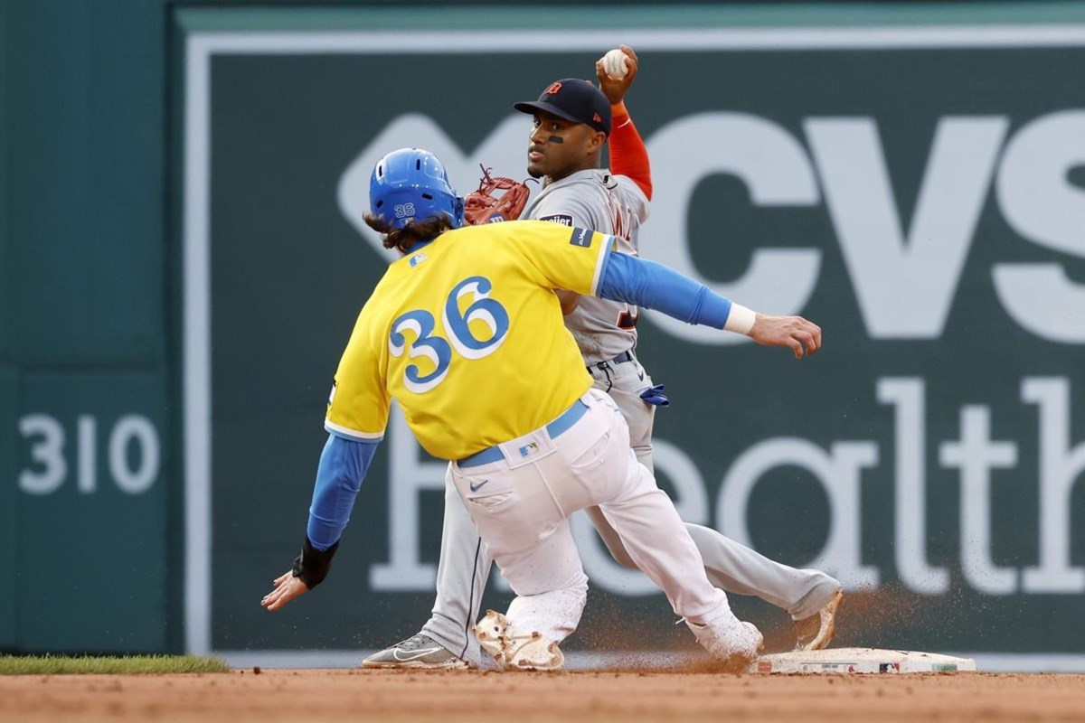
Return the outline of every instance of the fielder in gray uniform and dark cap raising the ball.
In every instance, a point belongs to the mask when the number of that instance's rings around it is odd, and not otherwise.
[[[637,234],[648,218],[651,173],[648,152],[624,105],[637,72],[637,56],[622,48],[627,73],[615,79],[597,63],[601,90],[566,78],[550,83],[537,101],[516,103],[532,114],[528,172],[544,178],[542,190],[522,219],[596,229],[617,238],[617,250],[637,254]],[[612,170],[599,167],[603,140],[611,144]],[[598,141],[598,144],[596,143]],[[655,408],[667,403],[636,357],[638,310],[597,297],[558,292],[565,325],[576,339],[595,387],[609,393],[629,426],[638,461],[652,469]],[[472,634],[492,561],[446,475],[445,519],[437,567],[437,596],[421,632],[367,658],[367,668],[465,668],[477,666]],[[598,507],[587,509],[608,550],[629,568],[636,564]],[[800,570],[701,525],[687,524],[704,559],[710,582],[740,595],[755,595],[787,611],[797,623],[797,648],[828,645],[843,598],[840,583],[818,570]]]

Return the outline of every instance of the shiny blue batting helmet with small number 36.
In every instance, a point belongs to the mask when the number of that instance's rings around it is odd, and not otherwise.
[[[422,149],[399,149],[376,162],[369,206],[396,230],[432,216],[448,216],[454,229],[463,225],[463,198],[448,183],[437,156]]]

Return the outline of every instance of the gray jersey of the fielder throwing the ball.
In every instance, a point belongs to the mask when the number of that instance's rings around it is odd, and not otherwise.
[[[637,233],[648,218],[648,198],[627,176],[602,168],[577,171],[549,183],[520,218],[552,221],[613,234],[617,249],[637,254]],[[584,361],[607,361],[637,346],[637,307],[583,296],[565,326]]]

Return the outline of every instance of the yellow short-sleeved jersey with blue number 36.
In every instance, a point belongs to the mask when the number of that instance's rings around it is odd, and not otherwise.
[[[392,399],[430,454],[538,429],[592,384],[554,288],[593,295],[613,237],[546,221],[463,227],[393,262],[366,302],[326,428],[376,440]]]

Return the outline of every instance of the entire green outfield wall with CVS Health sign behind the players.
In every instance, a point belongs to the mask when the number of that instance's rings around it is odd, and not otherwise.
[[[842,645],[1085,668],[1080,4],[53,0],[0,21],[0,649],[414,632],[443,465],[398,413],[334,574],[258,606],[387,262],[360,222],[369,171],[414,145],[461,192],[480,163],[523,175],[511,104],[627,42],[643,256],[825,328],[795,362],[642,315],[684,517],[840,577]],[[691,647],[575,528],[593,592],[570,649]],[[489,594],[509,598],[496,576]],[[779,611],[733,603],[786,644]]]

